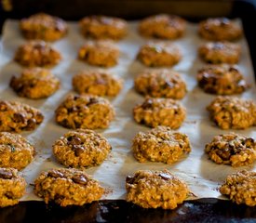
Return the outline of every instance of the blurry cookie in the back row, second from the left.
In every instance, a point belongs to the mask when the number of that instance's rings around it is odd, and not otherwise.
[[[79,25],[85,37],[95,39],[119,40],[128,32],[127,21],[115,17],[89,16],[80,20]]]

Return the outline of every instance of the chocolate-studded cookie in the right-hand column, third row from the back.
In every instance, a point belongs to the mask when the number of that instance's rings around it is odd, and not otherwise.
[[[200,69],[197,72],[197,83],[206,93],[216,95],[241,94],[249,88],[243,74],[227,64]]]

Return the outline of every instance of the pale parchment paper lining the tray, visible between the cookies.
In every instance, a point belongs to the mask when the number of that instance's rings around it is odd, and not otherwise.
[[[240,23],[240,20],[237,20],[237,22]],[[109,140],[113,150],[100,166],[91,167],[85,171],[98,179],[107,190],[107,193],[101,197],[102,200],[125,199],[125,178],[139,169],[168,169],[177,177],[181,177],[195,194],[196,197],[190,197],[189,199],[206,197],[223,199],[218,188],[228,174],[240,169],[255,171],[256,168],[253,165],[234,168],[228,165],[215,164],[204,153],[206,143],[214,136],[229,131],[221,130],[209,121],[209,114],[205,107],[215,96],[204,93],[196,86],[196,72],[204,65],[197,58],[196,51],[197,47],[205,41],[197,36],[197,25],[194,23],[188,23],[185,35],[181,39],[173,41],[181,47],[183,55],[182,61],[174,66],[173,70],[182,74],[188,88],[186,97],[181,100],[186,108],[187,117],[178,131],[188,135],[192,151],[186,158],[171,165],[150,162],[140,164],[133,158],[130,151],[132,138],[139,131],[150,130],[148,127],[136,124],[132,118],[132,108],[143,101],[143,97],[133,89],[133,79],[138,72],[146,68],[136,60],[136,55],[140,46],[149,41],[137,33],[137,25],[138,22],[136,21],[129,22],[128,36],[122,41],[116,42],[121,51],[118,65],[112,69],[106,69],[124,80],[124,88],[121,93],[116,98],[109,98],[115,107],[115,120],[107,129],[97,130]],[[25,40],[20,35],[18,21],[7,20],[5,23],[0,54],[0,98],[27,103],[38,108],[45,115],[43,124],[39,125],[38,128],[31,132],[21,133],[22,136],[28,138],[34,144],[37,151],[32,164],[21,171],[28,183],[26,194],[21,199],[23,201],[41,200],[34,195],[33,186],[31,186],[35,177],[43,170],[61,167],[61,164],[58,164],[52,155],[51,147],[54,141],[69,129],[55,123],[54,111],[63,98],[73,92],[71,81],[76,72],[84,69],[98,69],[76,59],[78,49],[84,42],[85,39],[79,33],[77,23],[69,22],[68,35],[53,43],[53,47],[61,52],[63,58],[61,63],[52,69],[52,72],[61,79],[61,89],[47,99],[19,98],[8,84],[12,75],[20,75],[22,71],[20,65],[12,59],[18,46],[25,43]],[[245,38],[237,43],[242,46],[238,68],[251,84],[249,91],[238,97],[255,99],[256,87],[249,58],[249,47]],[[250,127],[247,130],[233,132],[256,138],[255,130],[255,127]]]

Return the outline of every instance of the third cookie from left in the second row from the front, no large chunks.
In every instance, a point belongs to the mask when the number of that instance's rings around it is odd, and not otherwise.
[[[173,164],[191,151],[189,138],[173,133],[169,127],[159,126],[133,138],[132,151],[141,163],[146,161]]]

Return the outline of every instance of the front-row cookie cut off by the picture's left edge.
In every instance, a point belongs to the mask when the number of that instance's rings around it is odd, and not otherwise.
[[[19,176],[17,169],[0,167],[0,207],[19,203],[25,189],[26,181]]]

